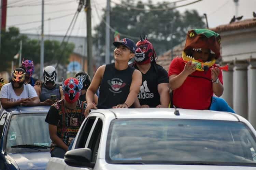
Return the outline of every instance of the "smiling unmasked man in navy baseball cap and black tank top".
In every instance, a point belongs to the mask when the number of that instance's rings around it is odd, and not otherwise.
[[[142,75],[128,65],[134,57],[136,45],[129,38],[115,41],[113,45],[115,62],[100,66],[86,92],[87,107],[85,116],[94,108],[128,108],[137,98],[142,83]],[[94,101],[94,94],[100,87],[98,105]]]

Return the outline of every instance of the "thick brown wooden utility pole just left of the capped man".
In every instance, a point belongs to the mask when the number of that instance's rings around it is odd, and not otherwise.
[[[91,37],[91,1],[86,0],[87,7],[87,66],[88,74],[90,77],[93,77],[93,56],[92,56],[92,47],[93,47],[93,38]]]

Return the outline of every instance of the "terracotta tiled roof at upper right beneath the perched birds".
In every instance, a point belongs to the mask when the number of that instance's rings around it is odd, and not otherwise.
[[[234,30],[248,29],[248,28],[254,28],[254,27],[256,27],[256,18],[232,22],[230,24],[225,24],[215,28],[211,28],[211,30],[217,33],[220,33],[225,31],[234,31]]]

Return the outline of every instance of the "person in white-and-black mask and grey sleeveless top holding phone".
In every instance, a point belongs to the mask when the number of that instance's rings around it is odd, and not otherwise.
[[[52,105],[63,99],[62,87],[56,84],[57,73],[53,66],[47,66],[43,73],[44,82],[35,85],[34,89],[40,98],[40,105]]]

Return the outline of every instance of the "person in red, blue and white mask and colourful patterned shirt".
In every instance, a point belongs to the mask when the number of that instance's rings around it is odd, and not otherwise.
[[[75,138],[85,116],[86,103],[79,100],[83,84],[81,79],[62,81],[64,99],[54,103],[46,116],[52,139],[51,156],[63,158]]]

